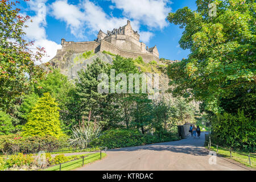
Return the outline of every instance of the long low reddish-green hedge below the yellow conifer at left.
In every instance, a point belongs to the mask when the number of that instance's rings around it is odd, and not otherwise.
[[[19,135],[0,136],[0,150],[4,154],[38,153],[39,151],[55,151],[66,142],[66,139],[57,139],[55,137],[20,137]]]

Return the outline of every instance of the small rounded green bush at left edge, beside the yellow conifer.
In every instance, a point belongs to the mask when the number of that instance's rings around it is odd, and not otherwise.
[[[8,135],[15,130],[13,119],[9,114],[0,110],[0,135]]]

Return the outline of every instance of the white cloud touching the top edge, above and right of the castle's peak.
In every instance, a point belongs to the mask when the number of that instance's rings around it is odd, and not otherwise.
[[[170,0],[111,0],[123,14],[138,20],[148,27],[164,28],[167,26],[166,16],[171,12]]]

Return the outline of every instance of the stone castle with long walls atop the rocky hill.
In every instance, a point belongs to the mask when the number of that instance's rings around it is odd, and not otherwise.
[[[137,58],[141,56],[145,62],[159,60],[159,53],[156,46],[148,48],[146,44],[139,41],[139,34],[131,28],[130,21],[123,27],[114,28],[113,31],[107,31],[106,34],[101,30],[98,32],[97,39],[90,42],[67,42],[61,39],[61,49],[57,50],[57,55],[64,55],[67,51],[75,53],[93,51],[111,52],[122,57]],[[54,59],[54,58],[53,58]]]

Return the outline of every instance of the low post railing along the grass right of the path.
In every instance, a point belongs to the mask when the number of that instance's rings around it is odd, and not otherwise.
[[[222,147],[212,142],[205,142],[208,143],[208,150],[214,150],[217,154],[225,155],[228,156],[230,159],[237,160],[238,162],[250,165],[251,167],[256,167],[256,154],[252,154],[250,152],[245,154],[245,152],[234,151],[231,148]],[[212,147],[212,145],[216,146],[216,148]],[[221,148],[223,148],[224,150],[221,150]]]

